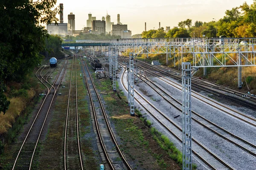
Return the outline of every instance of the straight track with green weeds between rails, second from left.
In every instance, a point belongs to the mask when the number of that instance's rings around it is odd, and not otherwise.
[[[75,62],[74,62],[75,59]],[[83,163],[79,142],[79,121],[77,102],[77,59],[73,57],[70,74],[69,94],[67,100],[67,114],[64,138],[64,169],[83,170]],[[73,66],[75,71],[73,71]],[[75,72],[75,73],[74,73]]]

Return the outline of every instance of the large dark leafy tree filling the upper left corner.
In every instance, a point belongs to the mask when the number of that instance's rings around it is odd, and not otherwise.
[[[56,0],[0,1],[0,111],[7,111],[9,102],[3,94],[9,80],[20,81],[38,63],[49,36],[42,23],[58,21]]]

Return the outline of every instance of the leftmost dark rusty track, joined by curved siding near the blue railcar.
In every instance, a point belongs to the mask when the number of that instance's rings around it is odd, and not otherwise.
[[[37,163],[35,161],[33,162],[33,158],[35,156],[35,152],[37,151],[36,148],[38,146],[38,141],[44,128],[44,123],[47,119],[49,109],[51,108],[52,101],[57,93],[58,87],[61,84],[67,64],[68,60],[65,59],[53,85],[48,88],[48,93],[46,94],[44,101],[42,102],[41,107],[32,122],[32,125],[27,129],[27,132],[25,132],[26,136],[22,137],[21,141],[23,141],[23,143],[20,143],[20,149],[18,149],[17,153],[14,153],[13,156],[14,164],[12,170],[30,170],[37,168]],[[41,69],[44,69],[44,66],[39,68],[39,70],[36,72],[36,77],[38,77],[38,72]],[[38,77],[38,79],[41,81],[41,77]],[[41,82],[45,85],[43,81]],[[47,85],[45,86],[47,87]]]

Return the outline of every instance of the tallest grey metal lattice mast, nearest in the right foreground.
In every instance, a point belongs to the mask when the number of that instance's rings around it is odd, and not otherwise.
[[[182,169],[192,170],[191,63],[182,62]]]

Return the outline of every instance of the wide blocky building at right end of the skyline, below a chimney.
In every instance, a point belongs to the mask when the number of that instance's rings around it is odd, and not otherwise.
[[[111,35],[119,35],[121,38],[131,38],[131,31],[127,29],[127,25],[112,25]]]

